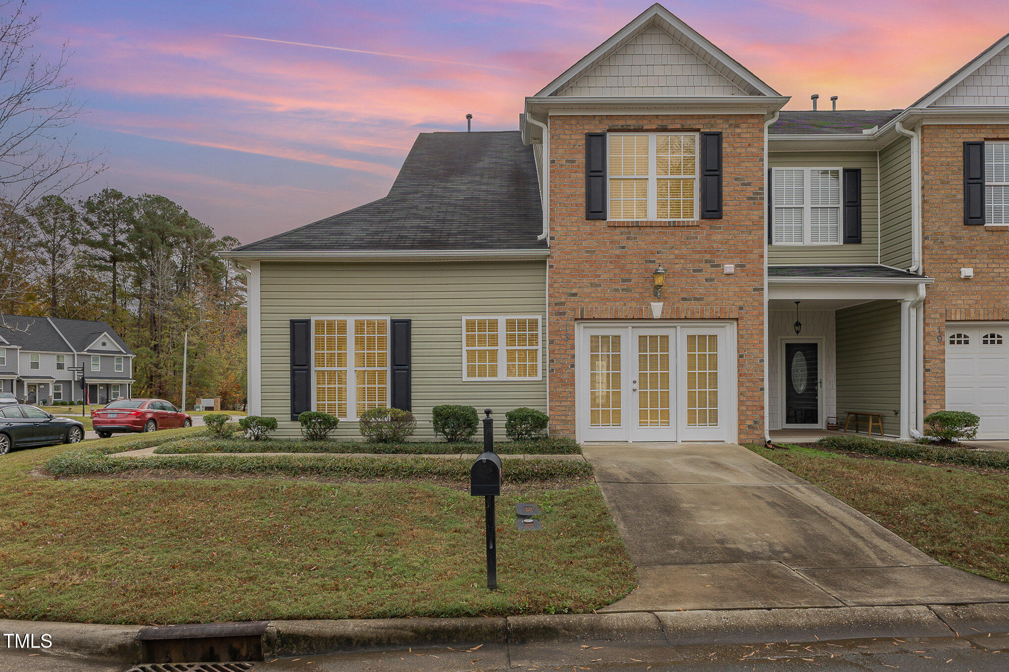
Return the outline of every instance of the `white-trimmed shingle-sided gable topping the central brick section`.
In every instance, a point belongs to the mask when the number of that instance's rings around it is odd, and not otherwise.
[[[548,84],[543,97],[723,97],[780,94],[655,4]]]

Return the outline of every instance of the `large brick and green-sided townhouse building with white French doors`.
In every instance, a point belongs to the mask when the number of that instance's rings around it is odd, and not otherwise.
[[[948,408],[1009,438],[1007,49],[907,109],[783,111],[654,5],[520,130],[422,133],[385,198],[227,253],[250,413],[350,436],[393,406],[430,435],[439,404],[528,406],[581,441],[763,441]]]

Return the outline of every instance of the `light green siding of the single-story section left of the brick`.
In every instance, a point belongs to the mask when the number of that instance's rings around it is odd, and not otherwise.
[[[503,434],[504,412],[527,406],[546,411],[545,375],[535,381],[462,379],[462,317],[538,315],[546,333],[546,261],[390,263],[261,263],[262,415],[279,421],[279,436],[298,432],[291,421],[290,320],[366,315],[412,320],[413,410],[416,438],[432,436],[431,408],[464,404],[494,411]],[[541,348],[544,372],[546,347]],[[357,423],[339,436],[359,438]]]

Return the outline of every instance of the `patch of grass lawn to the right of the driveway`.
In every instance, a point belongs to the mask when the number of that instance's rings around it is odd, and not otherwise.
[[[1009,473],[750,449],[861,511],[936,560],[1009,581]]]

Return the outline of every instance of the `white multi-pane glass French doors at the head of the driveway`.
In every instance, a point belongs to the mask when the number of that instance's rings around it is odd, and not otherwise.
[[[577,352],[582,441],[727,441],[725,326],[583,326]]]

